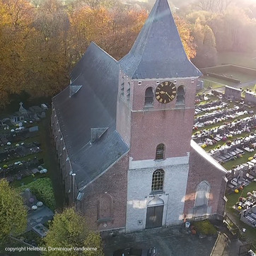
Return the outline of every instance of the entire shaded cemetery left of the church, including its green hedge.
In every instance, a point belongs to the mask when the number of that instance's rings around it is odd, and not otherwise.
[[[6,178],[22,193],[28,224],[18,240],[25,245],[37,246],[47,233],[47,221],[54,216],[54,192],[50,178],[43,178],[48,170],[40,138],[47,109],[41,104],[25,110],[20,103],[18,112],[0,120],[0,178]]]

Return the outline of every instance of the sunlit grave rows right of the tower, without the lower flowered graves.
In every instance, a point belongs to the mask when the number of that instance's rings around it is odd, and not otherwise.
[[[227,192],[255,180],[256,107],[225,99],[213,103],[210,94],[197,100],[195,108],[192,139],[228,170]]]

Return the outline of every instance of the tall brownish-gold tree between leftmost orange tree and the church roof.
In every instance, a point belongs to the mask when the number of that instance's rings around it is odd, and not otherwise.
[[[36,9],[26,48],[24,89],[30,95],[52,96],[69,84],[68,31],[69,17],[59,1],[44,1]]]

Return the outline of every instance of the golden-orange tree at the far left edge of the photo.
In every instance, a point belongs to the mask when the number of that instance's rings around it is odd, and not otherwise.
[[[25,81],[25,47],[32,30],[33,8],[25,0],[0,0],[0,107]]]

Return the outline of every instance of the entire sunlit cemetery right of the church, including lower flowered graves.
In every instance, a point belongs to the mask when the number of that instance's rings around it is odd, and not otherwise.
[[[240,221],[256,227],[255,93],[226,86],[225,93],[199,93],[192,139],[228,171],[226,194],[234,194]],[[246,98],[250,93],[250,100]],[[252,191],[244,195],[246,186]],[[247,190],[246,190],[247,191]],[[243,195],[243,196],[242,196]]]

